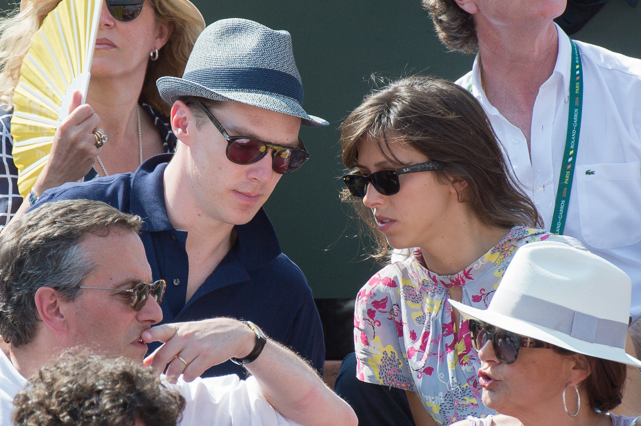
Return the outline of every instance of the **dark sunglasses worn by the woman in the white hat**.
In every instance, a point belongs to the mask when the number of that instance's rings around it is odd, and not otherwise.
[[[512,364],[517,360],[520,348],[556,348],[556,345],[547,341],[519,336],[478,320],[469,320],[469,328],[474,350],[478,352],[485,343],[492,341],[494,354],[505,364]]]

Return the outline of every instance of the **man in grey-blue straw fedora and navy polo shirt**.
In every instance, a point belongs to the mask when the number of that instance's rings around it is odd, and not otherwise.
[[[161,78],[158,89],[172,104],[175,154],[154,156],[133,174],[64,184],[35,207],[85,198],[139,215],[153,279],[168,284],[163,322],[249,320],[322,372],[312,292],[281,253],[262,209],[281,176],[309,157],[301,124],[328,124],[301,106],[289,33],[245,19],[214,22],[196,41],[183,78]],[[252,329],[258,350],[262,333]],[[227,361],[204,376],[228,373],[244,370]]]

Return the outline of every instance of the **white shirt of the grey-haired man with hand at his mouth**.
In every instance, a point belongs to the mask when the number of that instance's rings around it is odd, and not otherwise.
[[[240,380],[232,374],[185,382],[181,375],[178,383],[169,384],[161,375],[160,381],[185,397],[179,426],[300,426],[267,402],[254,377]],[[13,398],[26,383],[0,350],[0,426],[12,426]]]

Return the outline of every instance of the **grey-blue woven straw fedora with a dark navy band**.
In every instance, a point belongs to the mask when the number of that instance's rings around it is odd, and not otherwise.
[[[162,77],[156,85],[169,104],[181,96],[198,96],[293,115],[303,126],[329,124],[303,110],[303,83],[289,33],[253,20],[221,19],[205,28],[183,78]]]

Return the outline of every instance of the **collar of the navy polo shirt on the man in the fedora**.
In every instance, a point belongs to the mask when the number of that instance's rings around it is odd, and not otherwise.
[[[144,219],[144,231],[175,231],[167,216],[163,184],[165,168],[173,155],[153,156],[133,174],[129,206],[131,214]],[[281,254],[276,231],[263,208],[247,224],[236,225],[235,229],[237,243],[228,256],[246,270],[260,268]]]

